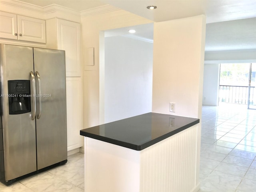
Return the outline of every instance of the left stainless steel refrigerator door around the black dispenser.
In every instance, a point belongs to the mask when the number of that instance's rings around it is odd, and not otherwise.
[[[30,71],[34,70],[33,48],[0,44],[0,56],[4,170],[5,180],[12,180],[36,171],[32,112],[10,115],[8,106],[8,80],[30,80]]]

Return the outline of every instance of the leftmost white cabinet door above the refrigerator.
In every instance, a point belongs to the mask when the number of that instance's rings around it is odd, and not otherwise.
[[[0,38],[17,40],[17,15],[0,11]]]

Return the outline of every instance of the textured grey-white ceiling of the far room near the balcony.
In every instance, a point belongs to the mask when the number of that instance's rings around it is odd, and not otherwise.
[[[256,17],[206,24],[205,51],[256,50]]]

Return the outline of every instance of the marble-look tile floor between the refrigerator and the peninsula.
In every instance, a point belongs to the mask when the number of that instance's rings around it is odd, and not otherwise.
[[[68,162],[10,186],[0,183],[0,192],[84,192],[84,154],[68,156]]]

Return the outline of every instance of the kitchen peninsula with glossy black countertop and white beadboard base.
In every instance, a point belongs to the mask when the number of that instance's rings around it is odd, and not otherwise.
[[[147,113],[81,130],[85,192],[196,192],[198,123]]]

